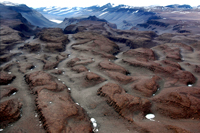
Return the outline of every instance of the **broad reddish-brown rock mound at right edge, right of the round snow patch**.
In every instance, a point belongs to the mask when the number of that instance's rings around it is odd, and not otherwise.
[[[173,119],[200,119],[200,89],[197,87],[171,87],[152,98],[156,112]]]

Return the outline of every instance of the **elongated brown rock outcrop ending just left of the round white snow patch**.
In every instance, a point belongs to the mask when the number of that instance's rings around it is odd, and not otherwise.
[[[108,83],[102,86],[97,94],[105,97],[107,103],[129,121],[134,121],[134,117],[138,116],[142,119],[144,115],[150,112],[151,102],[148,99],[127,94],[117,84]]]

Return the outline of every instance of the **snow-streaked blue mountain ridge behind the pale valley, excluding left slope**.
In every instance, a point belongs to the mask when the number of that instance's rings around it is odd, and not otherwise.
[[[190,5],[168,5],[168,6],[150,6],[133,7],[128,5],[113,6],[108,3],[104,6],[91,7],[41,7],[36,10],[48,19],[63,21],[64,18],[86,18],[96,16],[105,19],[110,23],[115,23],[118,29],[128,30],[137,24],[147,22],[148,20],[160,18],[158,11],[169,10],[192,10]]]

